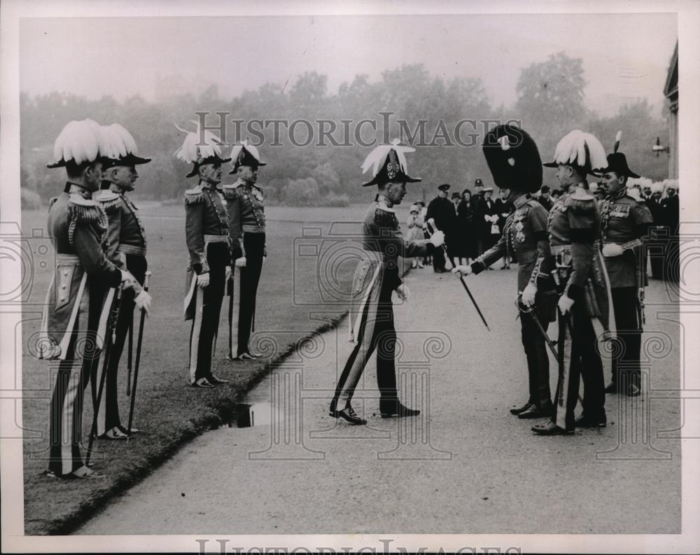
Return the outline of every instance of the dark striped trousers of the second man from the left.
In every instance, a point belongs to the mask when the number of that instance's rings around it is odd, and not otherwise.
[[[148,263],[146,258],[137,255],[126,255],[127,270],[144,285]],[[99,416],[97,419],[97,435],[102,435],[115,426],[121,426],[119,418],[119,402],[117,393],[117,371],[119,361],[124,351],[124,344],[129,333],[129,328],[134,324],[134,290],[132,288],[122,291],[119,318],[117,320],[115,342],[111,346],[107,375],[104,382],[104,391],[99,404]]]

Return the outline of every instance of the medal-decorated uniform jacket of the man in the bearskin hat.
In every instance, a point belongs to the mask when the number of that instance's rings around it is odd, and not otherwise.
[[[515,211],[503,225],[503,235],[472,262],[472,272],[479,274],[496,260],[514,253],[518,261],[519,293],[528,283],[535,283],[538,290],[552,290],[553,259],[547,237],[547,210],[528,195],[516,199],[514,206]]]

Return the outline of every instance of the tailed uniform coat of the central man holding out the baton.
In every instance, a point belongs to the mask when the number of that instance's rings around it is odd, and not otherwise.
[[[376,316],[380,293],[390,295],[391,291],[401,285],[398,258],[425,256],[433,250],[433,244],[426,239],[405,239],[395,211],[380,201],[373,202],[365,212],[362,248],[363,258],[355,270],[350,293],[349,323],[352,342],[358,338],[360,323]]]

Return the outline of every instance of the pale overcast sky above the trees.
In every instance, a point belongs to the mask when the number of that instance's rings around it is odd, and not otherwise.
[[[229,97],[318,71],[335,92],[418,62],[482,78],[492,104],[510,106],[521,69],[563,50],[583,59],[589,108],[611,115],[646,97],[660,113],[676,37],[675,14],[25,19],[20,87],[153,100],[159,77],[180,74]]]

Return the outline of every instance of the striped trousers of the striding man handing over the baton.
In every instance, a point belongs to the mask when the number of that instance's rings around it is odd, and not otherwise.
[[[365,311],[368,308],[365,307]],[[394,361],[396,330],[393,321],[391,290],[381,291],[379,307],[374,320],[358,315],[358,318],[360,317],[363,317],[363,322],[358,330],[358,342],[350,353],[338,379],[335,395],[331,402],[331,410],[336,408],[342,410],[350,404],[355,388],[367,365],[367,360],[370,360],[374,349],[377,349],[377,386],[381,401],[389,402],[398,399]],[[371,327],[371,330],[368,327]]]

